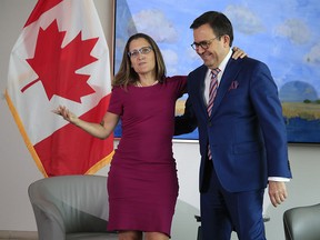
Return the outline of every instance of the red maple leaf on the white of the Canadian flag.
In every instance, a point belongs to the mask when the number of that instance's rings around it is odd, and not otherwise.
[[[76,71],[97,61],[90,56],[98,38],[81,40],[81,32],[61,48],[66,31],[59,32],[57,20],[46,30],[39,30],[34,57],[27,62],[38,74],[38,79],[22,88],[22,92],[38,81],[42,81],[47,97],[53,94],[81,102],[81,97],[94,92],[87,83],[90,76],[79,74]]]

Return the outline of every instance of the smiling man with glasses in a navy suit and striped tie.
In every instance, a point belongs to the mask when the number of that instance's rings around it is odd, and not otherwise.
[[[189,98],[176,134],[199,128],[202,239],[227,240],[232,230],[239,240],[266,239],[267,183],[277,207],[291,178],[277,86],[264,63],[230,58],[233,30],[224,14],[206,12],[190,28],[203,64],[188,76]]]

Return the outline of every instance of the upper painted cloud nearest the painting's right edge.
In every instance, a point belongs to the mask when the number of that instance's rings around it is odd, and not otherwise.
[[[308,26],[300,19],[287,19],[277,28],[280,37],[288,38],[294,44],[304,44],[310,39]]]

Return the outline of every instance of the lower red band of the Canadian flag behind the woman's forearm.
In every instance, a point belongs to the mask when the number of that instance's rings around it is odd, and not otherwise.
[[[100,122],[108,109],[110,94],[80,118],[90,122]],[[100,140],[69,123],[50,137],[34,144],[48,177],[63,174],[84,174],[88,169],[99,170],[94,166],[106,166],[113,153],[113,136]]]

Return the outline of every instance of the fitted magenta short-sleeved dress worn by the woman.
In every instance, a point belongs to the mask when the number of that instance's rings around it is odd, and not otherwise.
[[[122,137],[108,176],[108,230],[170,237],[179,190],[172,152],[174,106],[186,82],[186,77],[172,77],[151,87],[113,88],[108,111],[120,116]]]

